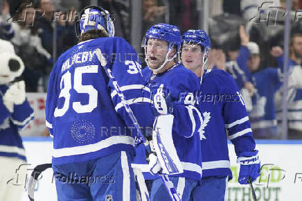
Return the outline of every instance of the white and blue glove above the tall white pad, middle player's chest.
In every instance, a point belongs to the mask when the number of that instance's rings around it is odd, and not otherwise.
[[[163,92],[162,88],[157,89],[157,94],[153,96],[153,103],[155,107],[155,115],[172,114],[173,103],[170,93]]]

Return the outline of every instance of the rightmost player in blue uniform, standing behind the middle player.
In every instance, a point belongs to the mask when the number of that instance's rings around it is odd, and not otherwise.
[[[204,30],[188,30],[181,37],[181,61],[202,78],[199,110],[204,114],[202,180],[193,190],[193,200],[224,200],[231,180],[227,139],[235,146],[240,163],[238,182],[249,184],[260,175],[258,150],[245,110],[245,102],[233,78],[220,69],[205,70],[211,43]],[[225,131],[227,129],[227,132]]]

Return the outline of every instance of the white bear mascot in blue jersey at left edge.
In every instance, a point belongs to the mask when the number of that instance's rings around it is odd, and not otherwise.
[[[24,63],[14,47],[0,40],[0,200],[21,200],[26,180],[26,156],[19,130],[33,119],[26,100]]]

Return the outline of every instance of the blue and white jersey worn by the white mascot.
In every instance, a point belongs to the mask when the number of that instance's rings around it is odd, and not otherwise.
[[[0,85],[0,156],[26,160],[18,130],[24,128],[33,119],[33,109],[25,100],[21,105],[14,105],[14,112],[10,113],[2,100],[7,89],[7,85]]]

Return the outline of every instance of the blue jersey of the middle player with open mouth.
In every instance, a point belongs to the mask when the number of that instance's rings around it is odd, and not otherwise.
[[[184,168],[184,173],[174,175],[186,177],[193,180],[200,180],[202,175],[202,156],[199,139],[201,125],[201,114],[192,105],[185,103],[191,95],[194,96],[200,89],[199,79],[195,74],[186,69],[182,64],[177,64],[168,71],[154,75],[148,67],[143,69],[143,76],[148,81],[152,94],[157,93],[159,87],[170,92],[173,103],[173,128],[172,139],[177,150],[177,155]],[[188,95],[191,93],[190,95]],[[192,99],[193,100],[193,99]],[[145,179],[154,179],[148,173],[148,165],[145,163],[145,152],[139,148],[134,167],[141,168]]]

